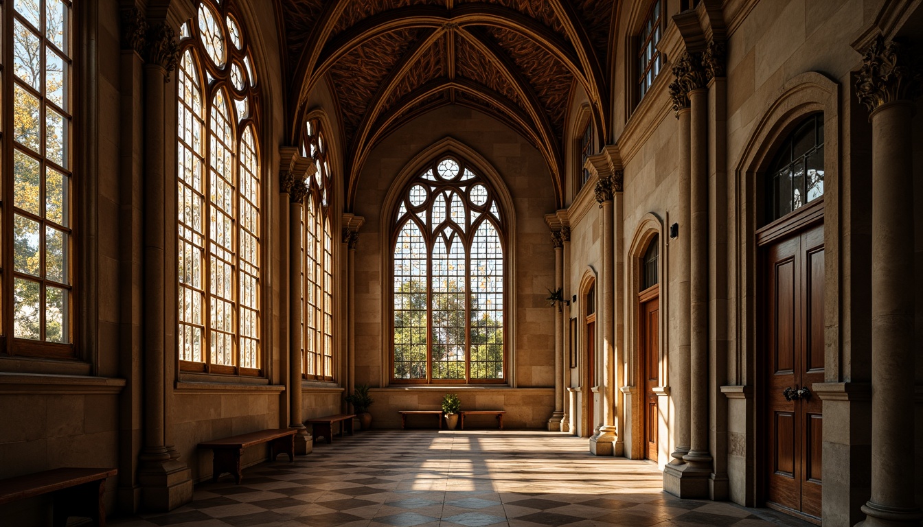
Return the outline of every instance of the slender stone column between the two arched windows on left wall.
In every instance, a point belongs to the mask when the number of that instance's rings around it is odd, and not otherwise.
[[[288,333],[289,333],[289,367],[288,391],[289,427],[297,430],[294,437],[294,452],[306,455],[313,450],[314,441],[302,422],[302,366],[304,357],[302,347],[304,333],[302,320],[304,311],[304,283],[302,281],[302,258],[304,256],[305,230],[301,226],[302,215],[307,195],[305,182],[306,164],[311,163],[293,153],[291,147],[282,150],[282,162],[289,158],[290,170],[282,172],[282,192],[289,195],[289,292],[288,292]],[[288,154],[288,155],[286,155]]]

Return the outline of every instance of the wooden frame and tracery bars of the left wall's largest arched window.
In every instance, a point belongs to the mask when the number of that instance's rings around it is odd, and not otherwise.
[[[233,19],[234,25],[238,30],[239,39],[241,46],[238,49],[234,42],[229,38],[223,39],[223,51],[224,51],[224,60],[221,65],[216,65],[212,62],[209,54],[205,50],[205,46],[202,43],[199,37],[198,30],[198,7],[204,5],[206,8],[210,8],[213,16],[217,16],[217,22],[222,28],[222,32],[226,33],[226,20],[228,18]],[[265,371],[265,353],[263,353],[262,344],[264,342],[262,338],[262,328],[264,326],[262,315],[260,314],[260,307],[264,304],[262,284],[263,278],[262,274],[265,269],[263,262],[266,261],[265,258],[265,247],[263,246],[263,231],[265,230],[265,225],[263,222],[263,207],[264,202],[264,192],[262,185],[262,160],[260,156],[260,145],[259,145],[259,84],[258,79],[254,75],[254,65],[252,63],[252,53],[250,51],[249,40],[247,39],[246,29],[241,24],[240,20],[242,19],[240,14],[236,11],[236,6],[234,6],[233,0],[222,0],[221,4],[216,4],[211,0],[198,0],[195,2],[196,15],[187,21],[184,25],[184,35],[180,41],[180,47],[178,55],[180,57],[180,66],[182,68],[182,62],[184,55],[188,52],[191,56],[192,67],[195,69],[195,75],[198,78],[198,90],[200,91],[201,96],[201,110],[203,116],[203,122],[201,124],[200,130],[200,140],[201,140],[201,150],[200,152],[193,152],[194,155],[199,157],[201,162],[200,173],[198,176],[201,178],[202,191],[200,196],[202,198],[202,210],[201,210],[201,226],[202,226],[202,252],[199,259],[199,266],[201,269],[201,317],[202,324],[200,329],[202,330],[201,336],[201,354],[202,361],[193,361],[186,360],[183,357],[182,350],[179,349],[183,346],[183,340],[181,337],[177,338],[177,361],[179,363],[179,369],[184,372],[194,372],[194,373],[206,373],[206,374],[219,374],[226,376],[239,376],[239,377],[263,377]],[[227,35],[225,35],[226,37]],[[232,67],[226,65],[234,64],[238,66],[239,71],[244,75],[244,80],[242,82],[243,88],[237,88],[234,86],[234,79],[231,74]],[[178,68],[178,69],[179,69]],[[182,75],[181,71],[177,71],[177,75]],[[210,79],[210,80],[209,80]],[[179,83],[177,82],[177,90],[179,89]],[[212,128],[212,112],[214,109],[213,102],[215,101],[217,95],[223,93],[225,98],[224,104],[227,108],[228,118],[230,119],[230,124],[232,127],[232,137],[234,139],[234,145],[230,145],[231,150],[231,159],[232,167],[231,174],[229,179],[232,183],[232,205],[231,210],[223,210],[217,205],[211,203],[212,195],[212,186],[210,184],[210,173],[213,170],[211,167],[212,164],[212,149],[211,143],[215,140],[214,138],[215,131]],[[181,99],[181,94],[176,94],[177,107],[185,104]],[[246,116],[238,116],[238,112],[241,111],[241,107],[238,106],[239,101],[246,102]],[[236,118],[236,121],[235,121]],[[182,126],[182,123],[177,122],[177,141],[179,142],[178,127]],[[257,286],[256,286],[256,307],[245,307],[242,305],[242,300],[240,298],[240,275],[244,272],[241,270],[241,262],[244,261],[242,256],[242,244],[241,244],[241,231],[242,227],[242,218],[241,218],[241,201],[246,200],[242,191],[242,180],[241,174],[244,172],[242,166],[243,159],[241,155],[243,138],[246,133],[246,130],[250,129],[253,136],[254,143],[254,154],[256,156],[256,178],[257,178],[257,188],[255,193],[257,196],[256,203],[250,203],[254,206],[255,213],[258,216],[258,232],[252,233],[257,239],[257,251],[254,258],[257,260],[255,268],[257,269]],[[177,150],[177,156],[179,155],[179,150]],[[186,185],[183,180],[182,174],[176,174],[177,186]],[[249,200],[247,200],[249,202]],[[177,210],[180,210],[182,204],[177,203]],[[213,277],[210,272],[210,261],[214,253],[212,252],[211,246],[214,245],[213,240],[211,239],[211,218],[214,211],[221,210],[226,213],[231,218],[232,222],[232,246],[234,247],[233,252],[233,270],[230,280],[233,282],[231,286],[232,295],[228,300],[233,305],[234,310],[234,321],[233,321],[233,332],[230,332],[233,338],[233,363],[232,365],[222,365],[213,363],[211,357],[211,320],[210,320],[210,298],[213,296],[210,293],[211,281]],[[186,239],[182,237],[181,234],[177,235],[177,250],[182,251],[182,244],[185,243]],[[177,258],[178,258],[177,253]],[[179,273],[177,274],[179,277]],[[192,323],[184,321],[181,313],[182,304],[180,303],[180,295],[182,294],[183,285],[181,284],[179,278],[176,281],[176,293],[177,293],[177,331],[182,332],[184,325],[193,326]],[[219,297],[221,298],[221,297]],[[241,342],[242,339],[246,338],[242,335],[241,331],[241,313],[244,309],[251,309],[256,311],[256,364],[258,367],[246,367],[241,365]]]

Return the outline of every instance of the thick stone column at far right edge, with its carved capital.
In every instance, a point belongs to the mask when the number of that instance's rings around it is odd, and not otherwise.
[[[918,525],[913,452],[907,422],[914,398],[914,282],[912,117],[921,76],[909,54],[881,35],[869,45],[857,95],[871,112],[871,497],[864,526]],[[918,360],[918,357],[917,357]]]

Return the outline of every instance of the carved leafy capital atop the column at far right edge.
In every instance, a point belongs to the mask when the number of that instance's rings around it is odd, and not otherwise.
[[[869,112],[895,101],[913,101],[923,87],[923,75],[900,42],[885,42],[880,34],[866,49],[857,73],[856,94]]]

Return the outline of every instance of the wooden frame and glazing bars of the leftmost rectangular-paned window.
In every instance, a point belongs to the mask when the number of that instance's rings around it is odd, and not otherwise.
[[[76,307],[78,304],[78,294],[80,292],[80,283],[78,277],[79,265],[78,258],[75,256],[75,249],[79,246],[78,242],[79,237],[79,202],[80,202],[80,177],[78,175],[78,166],[80,160],[78,160],[77,152],[80,151],[80,146],[83,141],[80,139],[82,134],[76,133],[75,130],[79,130],[79,118],[75,112],[76,107],[79,102],[79,87],[80,81],[82,80],[80,75],[80,54],[79,54],[79,42],[80,41],[80,5],[79,0],[65,0],[64,4],[67,6],[69,11],[67,12],[67,30],[66,30],[66,47],[68,48],[65,53],[64,50],[61,50],[54,42],[51,42],[48,39],[44,31],[44,26],[47,18],[47,8],[43,0],[37,0],[40,5],[40,10],[42,11],[40,15],[39,24],[42,26],[38,31],[33,31],[34,34],[37,34],[39,37],[39,45],[44,50],[42,53],[42,58],[40,59],[41,69],[42,69],[42,78],[46,75],[46,60],[45,54],[47,53],[47,46],[54,46],[53,53],[56,54],[62,61],[62,64],[66,67],[67,71],[67,89],[64,91],[62,96],[66,98],[66,101],[63,101],[67,108],[70,111],[66,111],[59,104],[51,101],[46,93],[45,86],[42,86],[40,90],[34,90],[26,82],[18,78],[15,73],[15,60],[14,60],[14,20],[18,20],[20,23],[25,24],[28,28],[31,25],[31,22],[24,15],[18,13],[14,8],[13,3],[9,2],[2,10],[2,24],[3,31],[0,31],[0,34],[3,34],[3,55],[2,55],[2,64],[6,65],[6,76],[3,80],[3,97],[0,98],[4,101],[3,112],[2,114],[2,126],[0,126],[0,138],[5,139],[3,141],[2,147],[2,174],[6,176],[2,179],[2,186],[0,186],[0,198],[2,198],[2,203],[5,205],[0,210],[0,218],[2,218],[2,223],[4,225],[3,231],[3,258],[0,259],[0,278],[2,278],[2,284],[4,294],[2,296],[2,304],[0,304],[0,356],[6,357],[34,357],[34,358],[44,358],[44,359],[59,359],[64,361],[76,361],[81,357],[78,356],[78,348],[76,342],[78,342],[78,332],[79,332],[79,320],[78,314],[76,313]],[[60,52],[60,53],[57,53]],[[43,84],[43,83],[42,83]],[[40,145],[38,150],[32,150],[28,145],[20,145],[15,139],[14,133],[14,115],[15,115],[15,97],[14,86],[19,86],[22,90],[25,90],[26,93],[29,93],[33,96],[37,96],[39,100],[40,107],[40,132],[39,132],[39,141]],[[62,163],[54,162],[54,160],[49,159],[48,153],[45,151],[45,129],[47,119],[44,118],[44,115],[47,112],[47,109],[52,109],[56,114],[60,114],[64,118],[64,123],[66,124],[66,138],[63,138],[63,148],[65,152],[63,153],[66,156],[66,160],[62,166]],[[8,133],[3,133],[7,132]],[[23,155],[28,156],[31,160],[35,160],[39,165],[39,197],[38,200],[40,203],[44,203],[47,200],[47,189],[46,186],[46,176],[44,176],[44,168],[50,167],[54,169],[55,172],[63,175],[63,184],[66,186],[66,210],[63,210],[63,214],[66,215],[66,225],[63,225],[59,222],[54,222],[54,220],[47,219],[47,214],[43,211],[44,207],[40,204],[40,211],[38,214],[30,212],[29,210],[23,210],[15,206],[14,198],[14,152],[21,152]],[[44,233],[47,227],[56,228],[56,230],[64,233],[64,240],[66,244],[64,255],[64,281],[53,281],[49,280],[46,276],[45,267],[46,267],[46,237],[44,234],[40,234],[39,250],[38,254],[40,255],[39,262],[39,275],[31,275],[28,272],[20,272],[15,268],[15,255],[14,255],[14,235],[13,235],[13,225],[14,225],[14,214],[19,215],[33,222],[38,222],[39,232]],[[17,278],[23,278],[30,282],[37,283],[39,285],[39,303],[40,303],[40,313],[39,313],[39,340],[21,338],[15,336],[15,295],[14,291],[14,282]],[[51,285],[56,288],[64,289],[67,292],[66,300],[66,313],[63,314],[63,323],[66,325],[63,328],[63,331],[66,332],[66,342],[54,342],[46,341],[47,336],[44,334],[46,329],[46,293],[45,286]]]

